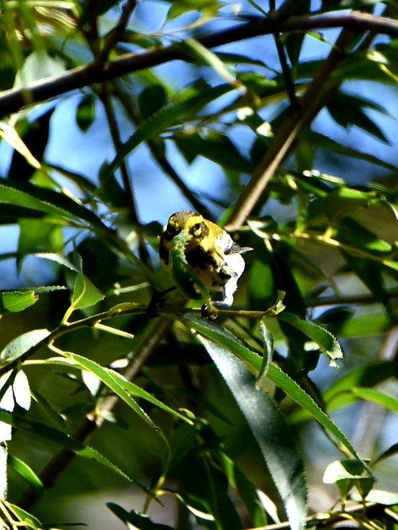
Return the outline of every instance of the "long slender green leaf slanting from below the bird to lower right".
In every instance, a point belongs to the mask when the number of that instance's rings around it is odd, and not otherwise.
[[[248,365],[252,366],[256,370],[261,367],[261,357],[254,351],[251,351],[246,346],[243,346],[239,341],[232,335],[228,334],[225,330],[221,329],[215,323],[204,322],[203,319],[190,317],[187,319],[188,325],[205,336],[209,340],[219,343],[232,351],[233,354],[238,356],[241,360]],[[300,407],[310,414],[312,418],[317,420],[320,425],[328,429],[330,433],[339,440],[341,445],[346,447],[348,451],[360,460],[364,467],[370,471],[366,462],[359,456],[355,447],[352,445],[346,435],[340,431],[339,427],[329,418],[327,414],[322,411],[315,401],[304,391],[297,383],[292,380],[287,374],[285,374],[277,365],[271,363],[268,369],[268,379],[272,381],[277,387],[282,389],[286,395],[290,396],[292,400],[298,403]],[[371,471],[370,471],[371,472]]]

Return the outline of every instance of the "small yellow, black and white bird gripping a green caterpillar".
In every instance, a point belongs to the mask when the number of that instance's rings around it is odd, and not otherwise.
[[[177,236],[179,237],[175,239]],[[184,243],[179,243],[177,248],[175,242],[179,241],[181,236]],[[179,257],[170,254],[173,252]],[[216,305],[232,304],[237,280],[245,266],[241,252],[241,248],[228,232],[190,210],[170,216],[159,244],[161,263],[170,272],[179,290],[188,298],[203,298],[203,288],[209,293],[221,292],[222,299],[216,301]],[[181,273],[175,272],[177,269],[181,271],[181,267],[170,267],[170,264],[176,263],[176,259],[186,263],[183,281],[181,276],[177,277]],[[184,288],[187,278],[194,289]],[[195,287],[198,296],[192,296]]]

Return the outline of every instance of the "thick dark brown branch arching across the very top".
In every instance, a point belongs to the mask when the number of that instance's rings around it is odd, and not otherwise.
[[[215,48],[263,34],[305,32],[326,28],[350,28],[356,32],[372,31],[390,37],[398,37],[398,21],[385,17],[374,17],[362,12],[351,12],[290,17],[283,21],[280,19],[252,19],[228,30],[199,35],[196,39],[207,48]],[[46,101],[92,83],[101,83],[177,59],[190,60],[178,43],[138,54],[128,53],[105,65],[97,65],[94,61],[94,63],[68,70],[59,76],[37,81],[27,87],[5,90],[0,94],[0,115],[12,114],[24,105]]]

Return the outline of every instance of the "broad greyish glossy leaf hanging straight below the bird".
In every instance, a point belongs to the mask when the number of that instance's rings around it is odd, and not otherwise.
[[[199,336],[261,449],[293,530],[305,527],[307,485],[294,436],[272,398],[255,388],[248,368],[225,347]]]

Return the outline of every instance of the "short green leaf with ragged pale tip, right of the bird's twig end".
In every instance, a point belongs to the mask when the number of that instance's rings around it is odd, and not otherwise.
[[[279,313],[276,318],[299,329],[304,335],[317,343],[319,349],[328,359],[330,366],[337,367],[336,360],[343,358],[343,352],[337,339],[330,332],[317,324],[302,320],[297,315],[286,311]]]

